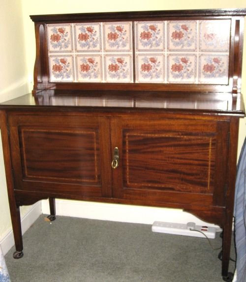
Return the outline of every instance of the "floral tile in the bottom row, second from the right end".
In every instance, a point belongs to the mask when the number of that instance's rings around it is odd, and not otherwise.
[[[169,55],[167,57],[167,81],[169,83],[195,83],[196,65],[196,55]]]

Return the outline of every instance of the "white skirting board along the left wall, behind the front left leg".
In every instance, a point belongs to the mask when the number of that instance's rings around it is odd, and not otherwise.
[[[38,201],[37,203],[33,204],[31,209],[21,219],[22,234],[24,234],[31,227],[31,225],[37,220],[40,214],[42,214],[41,201]],[[0,239],[0,246],[3,255],[5,255],[13,245],[14,235],[13,231],[11,230],[6,236]]]

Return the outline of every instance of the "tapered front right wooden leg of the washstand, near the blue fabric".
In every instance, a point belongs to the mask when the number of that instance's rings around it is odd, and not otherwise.
[[[231,236],[232,225],[227,223],[223,229],[223,244],[222,244],[222,278],[224,281],[231,282],[233,280],[233,274],[228,272],[230,261],[230,249],[231,249]]]

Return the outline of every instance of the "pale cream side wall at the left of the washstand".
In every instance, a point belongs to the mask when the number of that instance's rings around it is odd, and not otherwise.
[[[0,2],[0,102],[27,93],[28,70],[21,1]],[[22,215],[28,208],[22,209]],[[0,241],[11,230],[0,140]]]

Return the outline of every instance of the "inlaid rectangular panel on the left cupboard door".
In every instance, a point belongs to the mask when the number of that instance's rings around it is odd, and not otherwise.
[[[21,129],[25,180],[100,185],[97,130]]]

